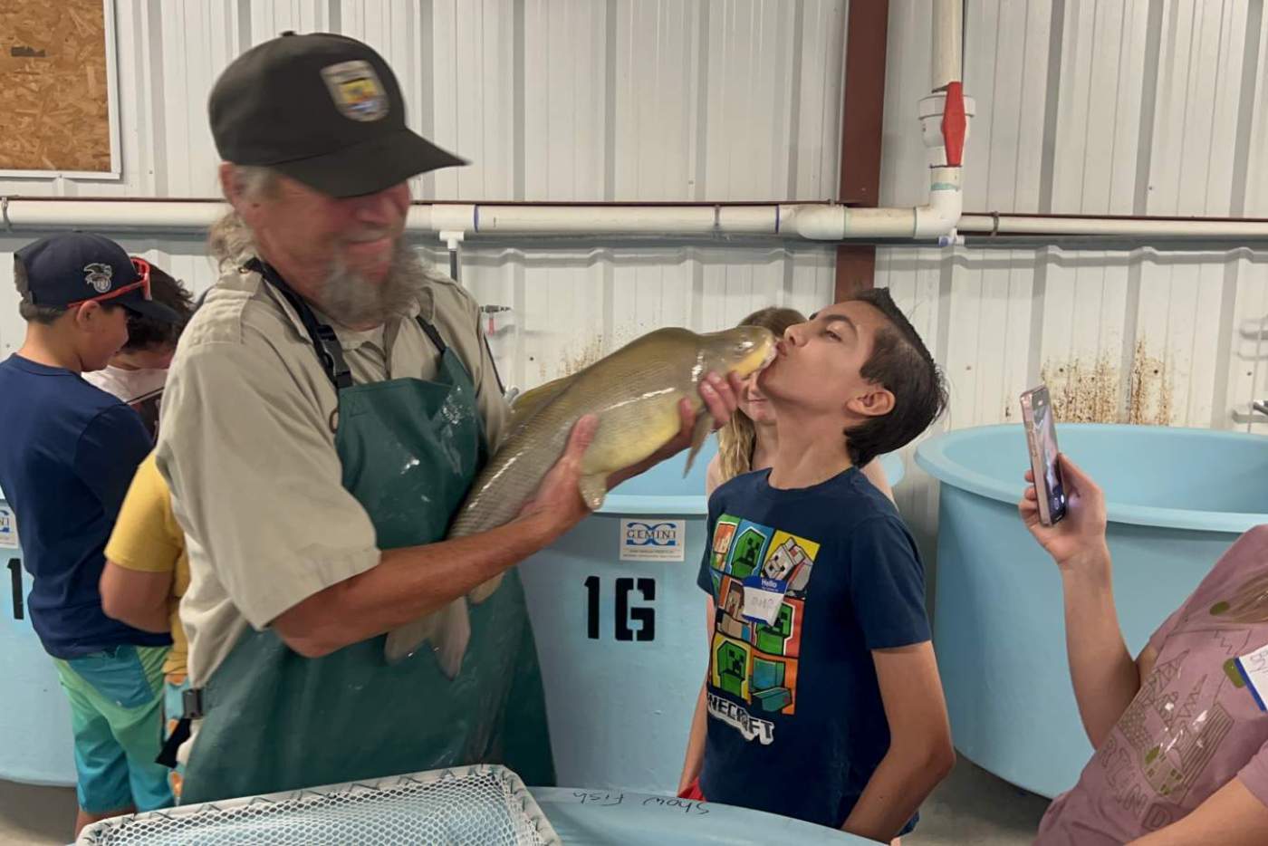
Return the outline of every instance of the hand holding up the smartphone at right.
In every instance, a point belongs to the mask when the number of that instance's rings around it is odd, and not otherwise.
[[[1038,495],[1035,491],[1035,473],[1026,471],[1030,482],[1022,493],[1017,510],[1040,545],[1052,556],[1063,572],[1098,566],[1110,559],[1106,547],[1104,493],[1092,477],[1064,454],[1059,457],[1061,479],[1065,485],[1065,519],[1054,526],[1038,520]]]

